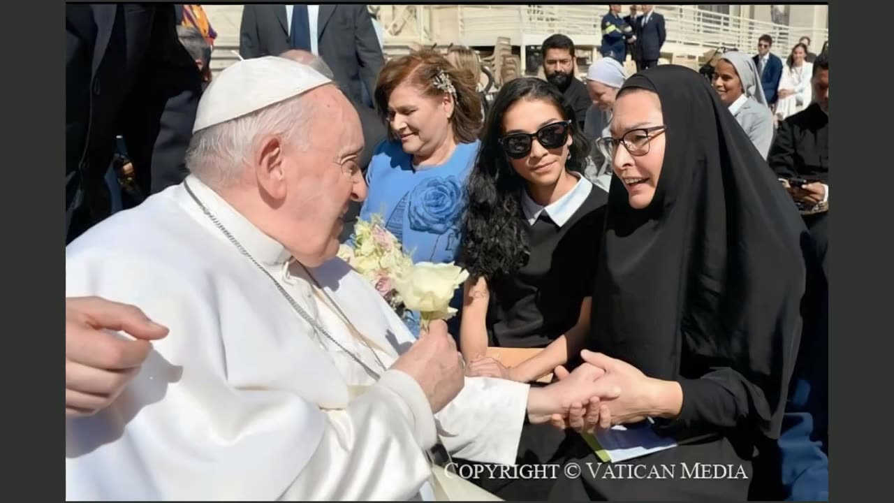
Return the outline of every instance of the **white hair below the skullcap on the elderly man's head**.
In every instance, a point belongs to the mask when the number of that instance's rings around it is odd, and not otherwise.
[[[266,135],[277,136],[297,149],[307,149],[308,125],[316,109],[306,95],[290,98],[249,115],[215,124],[193,134],[186,151],[190,173],[210,187],[237,182]],[[238,98],[237,98],[238,99]]]

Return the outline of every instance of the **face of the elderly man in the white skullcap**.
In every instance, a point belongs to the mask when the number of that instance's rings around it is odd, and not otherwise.
[[[342,217],[349,200],[364,200],[367,184],[360,172],[363,132],[357,111],[342,91],[325,86],[310,91],[312,100],[304,149],[283,148],[286,194],[282,210],[288,228],[286,248],[302,264],[316,267],[338,252]]]

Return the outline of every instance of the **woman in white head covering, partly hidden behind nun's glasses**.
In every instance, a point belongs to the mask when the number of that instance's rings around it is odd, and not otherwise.
[[[611,57],[603,57],[591,64],[586,72],[586,90],[593,105],[586,110],[584,133],[593,143],[584,176],[605,192],[609,192],[611,186],[611,156],[603,151],[596,140],[610,136],[611,107],[614,107],[615,96],[626,79],[624,67]]]

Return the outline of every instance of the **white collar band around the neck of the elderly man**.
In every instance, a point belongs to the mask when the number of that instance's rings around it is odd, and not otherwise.
[[[282,265],[291,259],[291,253],[285,247],[263,231],[249,222],[249,219],[234,209],[230,203],[217,194],[211,187],[202,183],[195,175],[189,175],[184,183],[190,184],[190,190],[198,200],[202,201],[207,209],[217,217],[220,223],[230,231],[233,237],[245,248],[247,252],[258,262],[268,266]],[[211,231],[229,243],[226,236],[214,225],[210,218],[199,208],[190,193],[186,191],[184,183],[177,187],[175,197],[180,200],[190,214],[196,216],[199,221],[210,227]],[[232,246],[232,244],[231,244]],[[235,248],[235,247],[234,247]]]

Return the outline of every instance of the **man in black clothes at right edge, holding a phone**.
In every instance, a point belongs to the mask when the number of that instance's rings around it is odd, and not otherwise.
[[[816,260],[824,278],[813,279],[808,268],[806,311],[797,365],[778,441],[780,473],[789,501],[829,499],[829,53],[814,61],[814,103],[780,123],[770,151],[770,166],[781,178],[803,178],[803,187],[789,187],[810,230]],[[811,302],[814,299],[817,302]]]

